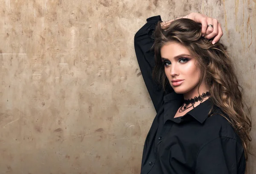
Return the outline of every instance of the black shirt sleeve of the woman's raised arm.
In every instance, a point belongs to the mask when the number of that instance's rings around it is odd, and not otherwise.
[[[160,109],[163,103],[163,96],[165,95],[163,88],[152,79],[153,67],[155,65],[154,51],[151,50],[154,44],[152,34],[159,21],[162,22],[160,16],[148,18],[147,23],[134,36],[134,49],[137,61],[156,112]]]

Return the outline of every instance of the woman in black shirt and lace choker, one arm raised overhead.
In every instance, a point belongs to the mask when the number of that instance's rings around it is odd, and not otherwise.
[[[150,17],[135,34],[157,112],[141,174],[245,173],[251,121],[221,36],[218,21],[198,13],[167,23]]]

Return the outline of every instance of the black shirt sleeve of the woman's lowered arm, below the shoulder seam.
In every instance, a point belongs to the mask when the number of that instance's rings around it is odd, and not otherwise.
[[[232,138],[216,138],[204,145],[197,157],[195,174],[244,174],[242,145]]]

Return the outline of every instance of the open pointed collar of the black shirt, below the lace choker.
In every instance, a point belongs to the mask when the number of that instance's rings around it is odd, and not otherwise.
[[[163,123],[166,123],[167,120],[174,119],[174,116],[183,104],[183,94],[177,94],[175,92],[169,93],[164,96],[164,118]],[[198,122],[204,123],[204,121],[208,117],[208,113],[212,108],[212,100],[211,98],[207,99],[203,103],[199,104],[197,107],[187,112],[186,115],[191,115]]]

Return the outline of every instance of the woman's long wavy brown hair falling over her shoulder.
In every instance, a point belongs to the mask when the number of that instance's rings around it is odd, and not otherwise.
[[[178,19],[165,28],[162,28],[160,23],[157,23],[152,35],[154,45],[151,49],[155,54],[153,78],[166,90],[169,81],[164,71],[160,49],[171,41],[184,45],[195,57],[197,66],[201,70],[199,83],[201,84],[203,79],[205,80],[213,104],[224,112],[222,116],[229,121],[241,138],[247,160],[249,141],[251,141],[249,135],[251,120],[244,111],[244,105],[246,107],[247,105],[242,97],[243,88],[239,85],[227,47],[221,42],[212,45],[212,39],[205,39],[201,36],[201,24],[193,20]],[[250,111],[248,113],[250,114]],[[213,108],[209,112],[209,116],[211,115],[214,115]],[[225,115],[228,115],[229,118]]]

